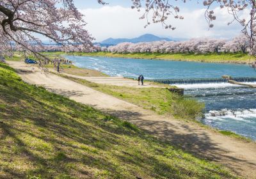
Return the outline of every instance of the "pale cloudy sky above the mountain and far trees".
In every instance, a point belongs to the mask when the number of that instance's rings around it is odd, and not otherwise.
[[[184,20],[177,20],[170,17],[170,24],[176,27],[174,31],[164,29],[161,24],[151,24],[144,28],[146,21],[140,20],[141,12],[131,9],[131,0],[106,0],[108,5],[101,5],[97,0],[74,0],[77,8],[84,14],[84,20],[88,23],[86,29],[95,38],[95,42],[101,42],[106,38],[134,38],[145,33],[151,33],[161,37],[169,38],[200,38],[213,37],[230,39],[241,33],[242,26],[237,22],[227,26],[232,20],[232,16],[227,10],[220,10],[217,6],[212,6],[217,20],[214,27],[209,29],[205,20],[205,7],[202,1],[188,1],[188,3],[177,2],[179,15],[184,16]],[[199,3],[196,3],[199,2]],[[245,11],[242,16],[248,16]]]

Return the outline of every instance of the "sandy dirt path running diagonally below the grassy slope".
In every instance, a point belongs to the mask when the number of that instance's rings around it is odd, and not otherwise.
[[[159,116],[151,111],[111,97],[57,75],[44,74],[35,67],[9,62],[22,79],[44,86],[77,102],[93,105],[135,123],[159,139],[180,146],[199,157],[224,164],[244,178],[256,178],[256,144],[244,143],[207,130],[194,123]]]

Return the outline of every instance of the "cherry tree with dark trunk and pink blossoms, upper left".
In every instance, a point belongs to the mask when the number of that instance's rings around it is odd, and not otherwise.
[[[38,57],[43,56],[36,48],[44,49],[38,35],[66,48],[70,44],[78,49],[92,47],[85,26],[73,0],[0,1],[0,36]]]

